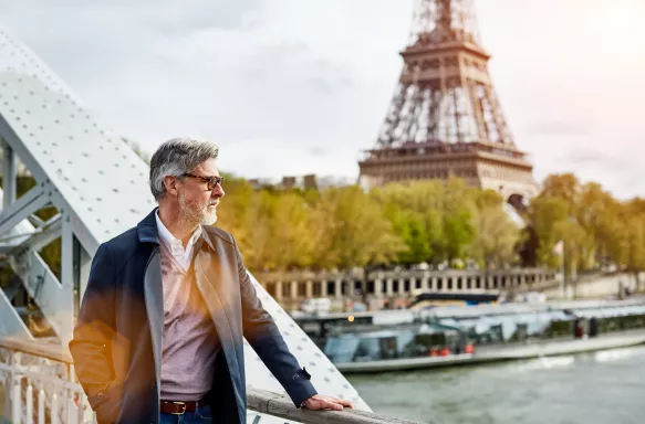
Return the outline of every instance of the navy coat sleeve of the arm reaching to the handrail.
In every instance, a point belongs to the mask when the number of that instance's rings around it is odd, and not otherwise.
[[[240,276],[245,338],[282,384],[295,406],[300,407],[302,402],[316,394],[310,381],[311,375],[300,367],[295,357],[289,351],[273,318],[262,307],[235,240],[233,244]]]

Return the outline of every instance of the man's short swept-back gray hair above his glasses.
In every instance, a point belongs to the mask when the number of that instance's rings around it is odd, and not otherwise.
[[[150,191],[158,202],[166,194],[164,177],[181,177],[208,159],[217,159],[219,147],[212,141],[174,138],[164,142],[150,159]]]

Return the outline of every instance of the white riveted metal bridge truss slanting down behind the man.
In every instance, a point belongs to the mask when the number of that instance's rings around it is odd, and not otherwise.
[[[0,254],[6,256],[19,277],[18,284],[24,287],[51,325],[58,346],[66,346],[96,248],[102,242],[135,226],[155,206],[147,183],[149,169],[121,137],[98,124],[92,112],[43,62],[1,29],[0,139],[3,176]],[[19,167],[35,179],[37,186],[17,198]],[[34,214],[45,206],[54,206],[58,211],[48,221]],[[39,254],[58,237],[62,243],[60,279]],[[289,348],[311,372],[316,389],[348,399],[356,407],[368,411],[347,380],[252,279]],[[14,307],[15,293],[15,286],[0,289],[0,338],[35,340],[19,308]],[[52,343],[52,339],[42,342]],[[245,352],[249,386],[283,393],[254,351],[247,346]],[[4,353],[0,349],[0,383],[4,383],[6,389],[9,389],[9,377],[13,379],[12,384],[17,384],[17,378],[35,381],[39,372],[45,377],[52,369],[56,370],[60,381],[73,379],[73,372],[61,374],[60,364],[45,358],[32,358],[29,365],[24,365],[15,362],[14,353]],[[58,411],[62,422],[69,422],[71,416],[84,416],[82,412],[69,413],[66,406],[71,396],[75,396],[71,386],[59,384],[56,392],[51,378],[44,380],[49,384],[35,390],[43,390],[46,398],[43,402],[46,401],[49,407],[54,399],[58,399],[56,404],[65,406]],[[10,399],[15,390],[6,390],[6,394],[9,405],[22,405],[21,421],[27,423],[33,418],[23,410],[33,401],[27,396],[27,390],[34,388],[23,385],[22,389],[25,400],[22,403]],[[38,411],[34,405],[32,409]],[[56,411],[55,407],[52,411]],[[250,416],[249,422],[257,423],[256,415],[252,420]],[[268,415],[261,418],[262,423],[275,420]]]

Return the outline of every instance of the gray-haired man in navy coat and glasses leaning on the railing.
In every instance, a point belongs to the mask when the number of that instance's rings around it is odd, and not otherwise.
[[[245,337],[297,406],[316,394],[262,308],[235,239],[212,142],[174,139],[150,162],[158,202],[96,251],[70,350],[100,423],[246,422]]]

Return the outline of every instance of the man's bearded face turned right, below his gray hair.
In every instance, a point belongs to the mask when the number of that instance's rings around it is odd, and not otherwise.
[[[208,159],[190,171],[198,177],[219,177],[215,159]],[[212,225],[217,221],[217,205],[225,192],[220,184],[208,190],[208,183],[198,178],[186,177],[177,186],[177,199],[181,221],[190,226]]]

